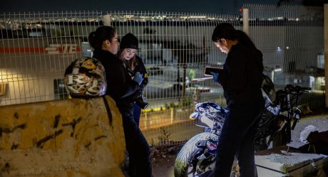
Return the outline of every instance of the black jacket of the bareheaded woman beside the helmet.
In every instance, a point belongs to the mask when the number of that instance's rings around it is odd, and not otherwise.
[[[94,50],[93,58],[101,61],[106,71],[107,90],[116,103],[132,102],[131,96],[138,89],[138,83],[131,80],[128,70],[116,55],[106,50]]]

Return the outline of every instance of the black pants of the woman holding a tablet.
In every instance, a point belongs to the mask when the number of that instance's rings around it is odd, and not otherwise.
[[[265,109],[264,101],[255,104],[230,104],[217,144],[215,177],[230,176],[234,156],[240,166],[240,177],[255,176],[254,139]]]

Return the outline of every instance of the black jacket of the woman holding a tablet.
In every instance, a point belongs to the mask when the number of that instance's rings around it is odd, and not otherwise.
[[[223,87],[228,105],[263,100],[262,61],[260,50],[242,43],[232,45],[223,70],[219,73],[219,82]]]

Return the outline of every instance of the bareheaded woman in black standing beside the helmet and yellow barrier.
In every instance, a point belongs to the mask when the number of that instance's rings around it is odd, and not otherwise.
[[[116,102],[123,119],[126,149],[135,156],[138,163],[135,174],[131,176],[151,177],[150,147],[142,132],[133,121],[132,96],[143,81],[140,73],[136,73],[133,80],[123,66],[121,60],[116,58],[118,52],[118,35],[111,26],[101,26],[88,36],[93,50],[93,58],[101,61],[106,70],[107,90]]]

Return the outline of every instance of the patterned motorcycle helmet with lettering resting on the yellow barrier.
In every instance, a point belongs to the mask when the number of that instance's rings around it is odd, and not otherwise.
[[[105,68],[96,58],[78,58],[66,68],[64,85],[71,97],[105,95],[107,87]]]

